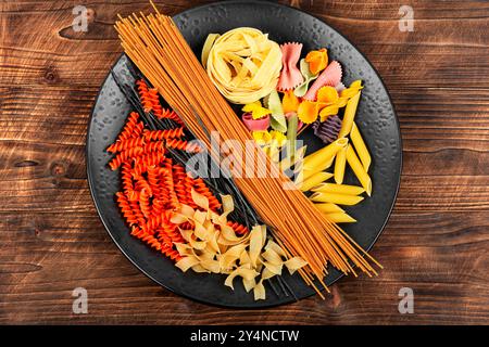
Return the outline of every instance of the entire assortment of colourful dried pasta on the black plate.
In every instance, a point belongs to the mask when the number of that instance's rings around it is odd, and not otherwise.
[[[239,27],[210,34],[199,62],[158,10],[120,17],[115,28],[139,74],[128,97],[135,111],[106,149],[131,235],[183,272],[225,275],[230,288],[240,278],[256,300],[266,283],[287,285],[284,269],[321,297],[328,266],[377,274],[373,265],[381,266],[338,227],[355,222],[340,205],[372,194],[372,158],[354,119],[363,86],[343,85],[326,48],[303,52],[301,42]],[[325,146],[305,155],[298,137],[310,125]],[[267,175],[254,166],[258,178],[237,175],[250,164],[234,150],[225,151],[233,165],[221,168],[228,176],[186,166],[202,155],[222,159],[211,133],[241,151],[251,143],[253,165]],[[343,182],[349,168],[358,185]]]

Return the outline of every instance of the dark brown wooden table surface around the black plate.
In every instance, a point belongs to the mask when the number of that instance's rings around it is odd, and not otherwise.
[[[83,4],[85,1],[80,1]],[[376,279],[266,310],[196,304],[155,285],[116,248],[85,169],[87,120],[121,52],[117,13],[146,0],[0,4],[0,323],[489,323],[489,3],[292,1],[340,29],[371,60],[396,104],[404,167],[394,211],[373,254]],[[177,13],[202,1],[160,1]],[[163,4],[167,2],[167,4]],[[414,31],[399,9],[414,10]],[[72,291],[88,291],[88,313]],[[414,313],[401,314],[401,287]]]

